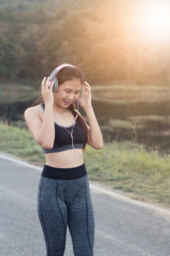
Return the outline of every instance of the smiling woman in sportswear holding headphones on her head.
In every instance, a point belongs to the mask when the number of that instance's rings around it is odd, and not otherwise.
[[[52,91],[51,76],[44,77],[41,104],[24,113],[30,132],[46,156],[38,185],[38,216],[46,256],[64,255],[67,224],[74,255],[91,256],[95,218],[83,151],[86,143],[102,148],[103,139],[91,105],[91,87],[82,71],[69,64],[57,69],[57,91]],[[89,126],[75,110],[75,101],[84,108]]]

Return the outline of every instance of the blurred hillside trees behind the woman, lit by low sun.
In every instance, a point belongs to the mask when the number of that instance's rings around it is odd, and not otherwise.
[[[92,84],[169,82],[170,54],[139,36],[133,0],[0,0],[0,7],[0,79],[41,79],[69,62],[81,63]]]

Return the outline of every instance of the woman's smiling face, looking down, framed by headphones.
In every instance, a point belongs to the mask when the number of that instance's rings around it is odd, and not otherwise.
[[[79,79],[65,81],[59,85],[57,92],[53,93],[54,104],[58,108],[67,108],[79,98],[81,90],[81,82]]]

